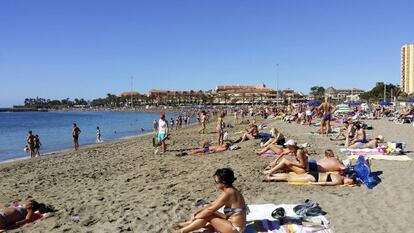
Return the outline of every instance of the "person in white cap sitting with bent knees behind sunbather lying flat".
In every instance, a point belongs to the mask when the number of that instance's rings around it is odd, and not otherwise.
[[[296,161],[290,161],[284,156],[279,156],[274,162],[265,168],[263,174],[270,175],[276,171],[295,172],[296,174],[306,173],[309,169],[308,156],[304,149],[299,148],[292,139],[285,143],[290,154],[296,157]]]

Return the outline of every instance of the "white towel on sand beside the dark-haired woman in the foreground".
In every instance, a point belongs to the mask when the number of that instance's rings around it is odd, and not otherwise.
[[[325,216],[316,216],[309,218],[314,223],[323,223],[318,226],[303,226],[293,223],[280,225],[280,222],[272,217],[272,212],[279,207],[283,207],[286,211],[286,216],[299,217],[293,211],[296,205],[248,205],[250,213],[247,215],[246,233],[293,233],[293,232],[318,232],[318,233],[332,233],[329,227],[329,221]]]

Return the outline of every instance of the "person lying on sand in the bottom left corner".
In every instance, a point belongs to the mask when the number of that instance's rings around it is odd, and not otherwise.
[[[50,207],[35,200],[26,201],[23,206],[11,206],[0,209],[0,230],[23,226],[36,220],[35,212],[42,209],[44,212],[53,212]]]

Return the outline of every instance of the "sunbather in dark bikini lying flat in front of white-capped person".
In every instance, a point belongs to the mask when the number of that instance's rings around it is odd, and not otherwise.
[[[345,177],[335,173],[322,172],[309,172],[304,174],[278,173],[267,175],[263,181],[303,182],[323,186],[355,184],[353,177]]]

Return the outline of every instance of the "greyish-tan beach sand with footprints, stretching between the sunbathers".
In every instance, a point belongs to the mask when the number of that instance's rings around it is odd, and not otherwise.
[[[321,158],[327,148],[339,154],[337,142],[304,134],[315,127],[265,122],[287,138],[310,143],[311,159]],[[382,134],[388,141],[405,141],[407,150],[414,151],[412,125],[386,120],[367,123],[375,128],[368,131],[372,136]],[[234,132],[244,127],[230,129],[230,138],[239,136]],[[1,164],[1,206],[32,197],[58,210],[17,232],[171,232],[176,222],[189,218],[196,199],[217,196],[214,171],[231,167],[237,176],[235,186],[248,204],[295,204],[312,199],[328,212],[335,232],[414,232],[410,224],[414,216],[413,161],[373,161],[372,170],[383,172],[382,183],[373,190],[263,183],[260,171],[272,159],[255,155],[259,141],[205,157],[175,156],[180,150],[199,147],[205,139],[215,141],[213,122],[208,125],[208,134],[200,135],[197,130],[198,126],[193,126],[173,131],[168,141],[170,151],[163,155],[154,155],[151,136],[143,136]]]

